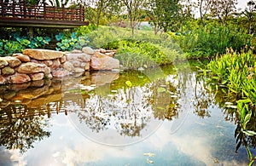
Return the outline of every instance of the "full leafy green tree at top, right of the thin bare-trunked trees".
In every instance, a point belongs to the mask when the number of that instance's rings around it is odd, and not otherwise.
[[[148,2],[149,22],[154,25],[154,33],[161,29],[176,30],[181,20],[181,5],[179,0],[151,0]]]

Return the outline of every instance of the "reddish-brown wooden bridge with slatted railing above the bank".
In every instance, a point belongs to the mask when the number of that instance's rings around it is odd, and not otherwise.
[[[84,7],[70,9],[24,3],[4,3],[1,0],[0,26],[74,28],[88,26],[84,21]]]

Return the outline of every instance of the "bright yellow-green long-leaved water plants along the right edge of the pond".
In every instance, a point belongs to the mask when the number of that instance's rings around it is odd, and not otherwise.
[[[242,52],[237,54],[229,49],[226,54],[212,60],[208,64],[210,69],[209,75],[211,80],[226,86],[229,89],[228,93],[236,95],[237,106],[234,106],[238,112],[239,124],[241,125],[240,134],[236,134],[238,145],[241,146],[242,138],[255,136],[255,125],[250,125],[255,122],[256,117],[256,55],[252,50],[247,53]],[[255,157],[249,150],[247,144],[244,144],[247,149],[247,154],[250,160],[250,165],[253,164]]]

